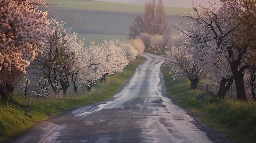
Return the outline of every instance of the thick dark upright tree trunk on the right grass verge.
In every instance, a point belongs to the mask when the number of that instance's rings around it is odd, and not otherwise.
[[[242,101],[247,101],[245,84],[244,84],[244,74],[237,71],[236,73],[233,73],[233,75],[234,75],[234,80],[236,83],[237,99],[242,100]]]

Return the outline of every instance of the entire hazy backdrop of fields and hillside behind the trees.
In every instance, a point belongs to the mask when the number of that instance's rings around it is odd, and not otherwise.
[[[104,0],[102,0],[104,1]],[[92,0],[48,0],[52,5],[47,8],[41,7],[41,11],[48,10],[47,18],[57,18],[58,21],[65,21],[64,28],[70,29],[71,32],[79,34],[79,39],[86,39],[86,46],[89,46],[90,40],[95,40],[97,43],[103,39],[111,39],[121,37],[122,40],[127,40],[130,25],[136,16],[143,17],[144,4],[143,0],[135,2],[134,0],[105,0],[106,2],[96,2]],[[124,2],[126,4],[110,3]],[[134,4],[130,4],[134,3]],[[116,4],[116,5],[115,5]],[[108,5],[110,7],[102,7]],[[170,4],[169,4],[170,5]],[[122,9],[118,9],[122,7]],[[131,12],[131,7],[135,10]],[[90,9],[89,9],[90,8]],[[179,12],[187,11],[187,8],[166,7],[166,21],[171,33],[177,33],[172,25],[177,23],[189,22],[185,18],[178,16]],[[192,10],[191,10],[192,11]],[[90,36],[91,35],[91,36]],[[96,36],[97,35],[97,36]]]

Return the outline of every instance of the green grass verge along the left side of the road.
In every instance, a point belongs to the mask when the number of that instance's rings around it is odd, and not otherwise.
[[[144,57],[139,56],[125,68],[124,72],[106,77],[105,84],[98,83],[91,92],[81,96],[42,99],[14,97],[15,104],[0,106],[0,142],[9,141],[11,137],[17,136],[29,130],[32,126],[61,114],[65,110],[112,97],[144,60]],[[25,113],[31,114],[32,118],[25,116]]]

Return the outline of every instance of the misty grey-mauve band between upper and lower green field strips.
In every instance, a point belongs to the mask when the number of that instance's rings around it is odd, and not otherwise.
[[[48,18],[66,21],[66,28],[72,27],[72,31],[79,33],[128,34],[132,20],[136,16],[143,16],[140,13],[62,10],[54,7],[49,7],[48,10]],[[174,20],[178,23],[185,20],[178,15],[168,15],[166,19],[170,28],[175,24]],[[174,29],[171,31],[176,32]]]

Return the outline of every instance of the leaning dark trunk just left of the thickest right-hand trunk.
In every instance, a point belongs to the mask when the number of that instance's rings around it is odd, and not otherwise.
[[[233,83],[233,80],[233,77],[229,79],[222,77],[220,81],[220,87],[216,96],[224,99]]]

